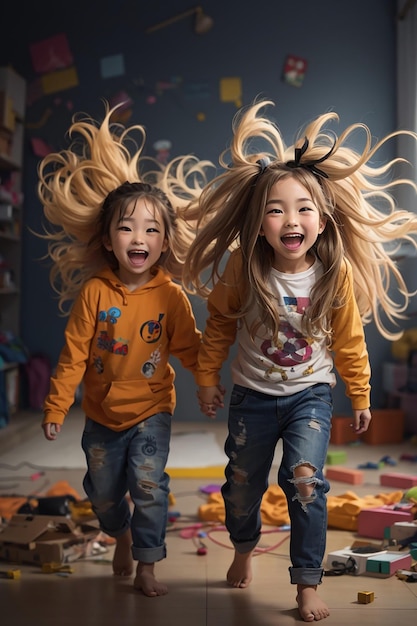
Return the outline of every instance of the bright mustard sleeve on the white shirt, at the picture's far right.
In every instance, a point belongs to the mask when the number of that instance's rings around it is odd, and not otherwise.
[[[353,291],[352,267],[348,262],[342,269],[342,281],[345,304],[332,312],[331,349],[336,369],[346,385],[346,395],[352,403],[352,409],[368,409],[371,403],[371,367],[365,332]]]

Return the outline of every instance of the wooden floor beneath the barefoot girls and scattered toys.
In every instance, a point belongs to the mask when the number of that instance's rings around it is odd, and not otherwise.
[[[19,414],[10,426],[0,431],[0,455],[15,452],[15,465],[24,463],[20,449],[31,439],[39,442],[40,416]],[[82,428],[82,416],[72,415],[65,428]],[[175,430],[207,429],[214,431],[223,443],[226,424],[204,418],[193,423],[173,423]],[[54,442],[54,445],[59,445]],[[347,450],[347,465],[377,462],[389,454],[399,459],[402,453],[417,454],[415,445],[404,442],[395,446],[331,447]],[[42,466],[43,458],[39,458]],[[401,461],[390,471],[417,474],[417,465]],[[0,460],[0,496],[36,493],[37,485],[28,478],[30,472],[11,472]],[[44,487],[54,481],[66,480],[82,492],[83,468],[59,470],[48,468],[43,476]],[[392,491],[379,485],[379,470],[366,470],[363,485],[331,484],[331,494],[354,491],[358,495]],[[271,482],[276,479],[276,468]],[[173,508],[179,514],[167,533],[168,557],[157,565],[157,576],[169,587],[166,596],[147,598],[136,592],[132,579],[112,576],[112,548],[97,562],[78,560],[67,576],[44,574],[39,567],[19,565],[20,580],[0,579],[1,622],[13,626],[290,626],[301,623],[296,610],[295,590],[289,584],[288,533],[271,532],[264,528],[261,541],[263,552],[254,557],[254,580],[247,589],[232,589],[225,584],[225,575],[232,558],[227,534],[219,526],[203,526],[199,539],[184,537],[190,527],[201,523],[198,507],[206,501],[202,486],[221,484],[218,477],[172,478]],[[40,487],[42,485],[39,485]],[[84,496],[83,496],[84,497]],[[184,533],[184,530],[186,531]],[[344,530],[328,530],[327,552],[343,549],[358,539]],[[197,554],[199,541],[207,548],[205,555]],[[0,562],[0,570],[11,564]],[[14,565],[16,567],[16,565]],[[374,601],[359,604],[359,591],[372,591]],[[401,626],[416,623],[417,584],[390,578],[369,576],[325,576],[320,595],[330,607],[331,615],[323,623],[331,626],[358,624]],[[7,617],[7,619],[6,619]]]

